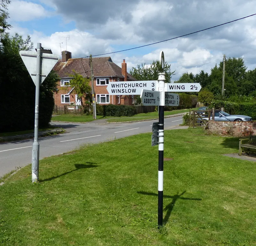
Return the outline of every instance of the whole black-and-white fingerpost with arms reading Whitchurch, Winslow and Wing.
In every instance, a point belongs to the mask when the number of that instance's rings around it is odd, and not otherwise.
[[[157,81],[109,82],[109,95],[140,95],[145,106],[159,106],[159,120],[153,123],[151,145],[158,145],[158,226],[163,225],[164,190],[164,106],[179,106],[179,94],[170,92],[197,92],[199,83],[165,83],[164,52],[160,53],[161,71]],[[158,125],[158,127],[156,127]]]

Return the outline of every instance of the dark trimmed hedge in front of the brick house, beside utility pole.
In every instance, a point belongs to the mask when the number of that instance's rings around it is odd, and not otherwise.
[[[96,114],[103,116],[132,116],[136,114],[136,108],[129,105],[100,105],[96,104]]]

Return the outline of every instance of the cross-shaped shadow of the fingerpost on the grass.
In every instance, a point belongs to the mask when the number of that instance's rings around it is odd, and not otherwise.
[[[167,211],[165,216],[164,216],[164,220],[163,222],[166,223],[171,215],[172,209],[175,205],[175,202],[178,199],[182,199],[182,200],[194,200],[194,201],[202,201],[201,198],[187,198],[187,197],[181,197],[183,194],[185,194],[186,191],[183,191],[180,195],[177,193],[176,195],[164,195],[164,198],[172,198],[172,202],[170,202],[165,208],[164,211]],[[139,194],[143,194],[143,195],[154,195],[154,196],[158,196],[158,194],[156,193],[152,193],[152,192],[145,192],[145,191],[137,191],[137,193]]]

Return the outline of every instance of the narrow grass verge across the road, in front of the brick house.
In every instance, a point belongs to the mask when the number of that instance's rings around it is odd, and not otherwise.
[[[193,108],[192,110],[195,110],[197,108]],[[164,115],[175,115],[180,113],[188,112],[189,109],[177,109],[172,111],[165,111]],[[112,117],[107,116],[103,117],[101,115],[97,115],[97,119],[106,119],[109,123],[111,122],[126,122],[126,121],[137,121],[137,120],[148,120],[148,119],[155,119],[158,118],[157,112],[150,112],[150,113],[142,113],[133,115],[131,117],[128,116],[122,116],[122,117]],[[93,121],[92,115],[56,115],[52,117],[52,121],[67,121],[67,122],[90,122]]]

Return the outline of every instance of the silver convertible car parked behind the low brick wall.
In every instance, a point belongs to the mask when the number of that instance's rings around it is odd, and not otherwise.
[[[201,116],[203,120],[208,120],[208,115]],[[197,123],[204,124],[202,119],[198,118]],[[211,118],[212,120],[212,113]],[[246,115],[230,115],[221,110],[214,110],[214,121],[252,121],[252,117]]]

